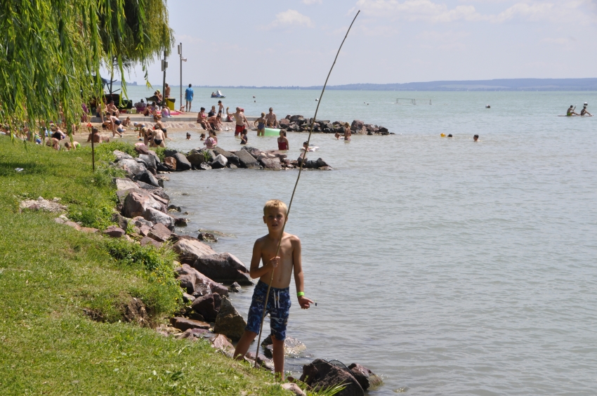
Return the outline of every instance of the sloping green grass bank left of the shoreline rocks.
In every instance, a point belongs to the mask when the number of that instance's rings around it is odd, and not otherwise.
[[[98,160],[117,145],[100,145]],[[169,251],[18,210],[22,199],[58,197],[69,218],[103,229],[115,204],[114,172],[100,166],[92,173],[86,148],[26,148],[0,136],[0,394],[287,395],[270,374],[208,343],[124,321],[122,308],[133,298],[152,322],[181,307]]]

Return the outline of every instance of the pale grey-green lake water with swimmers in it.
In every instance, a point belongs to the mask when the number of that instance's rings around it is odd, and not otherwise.
[[[211,91],[195,88],[193,106],[216,104]],[[249,115],[273,106],[279,117],[313,117],[319,95],[224,91],[224,105]],[[293,301],[289,336],[313,357],[383,376],[370,395],[594,395],[597,117],[556,117],[585,101],[597,104],[597,93],[327,91],[318,118],[396,134],[313,135],[310,157],[336,170],[303,172],[291,208],[287,231],[301,238],[306,295],[318,304]],[[199,147],[197,130],[173,138],[171,147]],[[289,157],[306,138],[289,133]],[[231,132],[219,143],[240,148]],[[249,145],[276,148],[254,132]],[[263,204],[288,202],[297,174],[172,173],[166,190],[192,213],[181,232],[234,235],[214,249],[248,266],[267,232]],[[232,296],[242,315],[251,293]],[[311,359],[289,358],[287,369]]]

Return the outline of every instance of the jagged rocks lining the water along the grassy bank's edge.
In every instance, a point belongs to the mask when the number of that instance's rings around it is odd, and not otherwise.
[[[249,154],[249,150],[244,151]],[[174,152],[171,158],[177,158],[176,154],[182,157],[181,153]],[[171,205],[170,197],[163,189],[164,181],[169,180],[167,176],[154,176],[148,170],[150,164],[160,164],[155,152],[149,151],[148,154],[133,158],[124,152],[114,151],[114,156],[116,161],[111,166],[124,169],[127,177],[113,180],[117,188],[118,204],[112,220],[118,225],[107,227],[101,232],[105,237],[124,238],[142,246],[150,244],[159,248],[167,242],[178,255],[178,261],[175,262],[176,279],[187,305],[184,312],[180,312],[182,315],[171,317],[170,325],[159,326],[157,331],[164,336],[189,341],[205,339],[216,350],[232,357],[232,342],[240,339],[247,322],[232,305],[229,297],[230,293],[240,291],[242,286],[254,285],[247,267],[232,253],[218,253],[202,242],[202,239],[215,239],[214,235],[200,232],[198,237],[191,237],[173,232],[175,226],[186,225],[188,220],[176,214],[181,211],[180,207]],[[217,154],[216,157],[218,156],[224,157],[223,154]],[[46,201],[41,197],[37,201],[21,202],[21,208],[56,213],[64,209],[58,201]],[[55,218],[55,221],[81,232],[100,232],[81,227],[64,215]],[[140,301],[138,303],[143,305]],[[145,312],[143,306],[137,310]],[[134,315],[130,319],[126,318],[131,322],[147,325],[143,318],[139,319]],[[255,364],[256,360],[258,367],[273,371],[270,345],[271,340],[265,338],[261,343],[263,355],[260,353],[255,356],[249,352],[244,359],[251,364]],[[294,338],[287,338],[284,345],[285,353],[290,356],[296,356],[306,349],[303,343]],[[299,381],[313,389],[346,384],[346,388],[338,395],[364,395],[364,390],[379,385],[381,378],[360,364],[353,363],[346,367],[340,362],[315,359],[303,366],[303,375]],[[297,395],[304,395],[300,388],[292,385],[294,384],[284,384],[284,387]]]

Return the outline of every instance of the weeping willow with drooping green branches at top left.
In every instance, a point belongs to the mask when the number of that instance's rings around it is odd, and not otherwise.
[[[1,0],[0,123],[64,121],[103,95],[100,68],[124,69],[169,52],[165,0]]]

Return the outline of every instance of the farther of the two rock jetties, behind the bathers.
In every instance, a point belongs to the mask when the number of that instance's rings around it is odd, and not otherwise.
[[[280,119],[280,129],[289,132],[308,132],[313,123],[313,118],[305,118],[302,115],[287,115]],[[345,121],[331,122],[329,119],[315,119],[313,124],[313,132],[322,133],[344,133]],[[378,126],[373,124],[365,124],[358,119],[353,120],[350,124],[350,131],[352,133],[360,133],[362,135],[393,135],[393,132],[388,131],[385,126]]]

